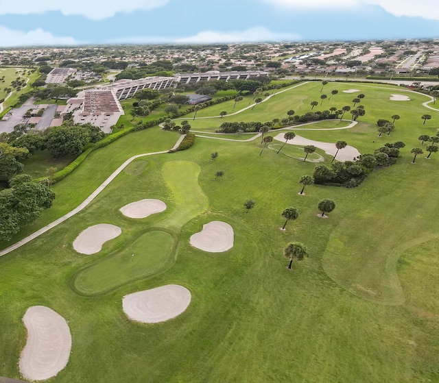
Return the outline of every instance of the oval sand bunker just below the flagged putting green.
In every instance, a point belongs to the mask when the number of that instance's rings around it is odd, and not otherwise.
[[[191,303],[191,292],[178,284],[167,284],[126,295],[122,308],[126,316],[141,323],[158,323],[178,317]]]

